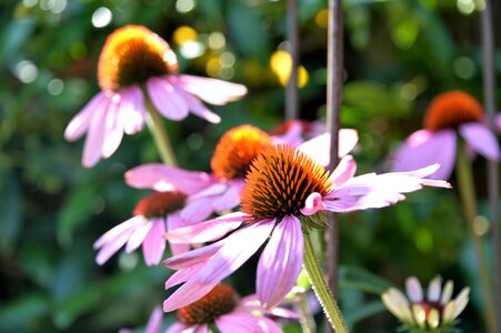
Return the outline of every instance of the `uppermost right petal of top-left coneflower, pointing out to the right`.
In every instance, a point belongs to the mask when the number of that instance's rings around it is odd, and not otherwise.
[[[184,90],[214,105],[239,100],[247,93],[246,85],[222,80],[187,74],[178,74],[176,79]]]

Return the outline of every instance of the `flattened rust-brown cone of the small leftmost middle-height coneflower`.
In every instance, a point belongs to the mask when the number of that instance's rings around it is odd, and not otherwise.
[[[177,191],[153,192],[138,202],[133,215],[162,218],[184,206],[187,195]]]

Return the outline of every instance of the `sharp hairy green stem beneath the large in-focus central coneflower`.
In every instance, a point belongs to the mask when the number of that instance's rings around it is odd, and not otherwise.
[[[304,270],[307,271],[308,278],[310,279],[313,291],[322,305],[323,312],[327,319],[332,325],[332,329],[337,333],[348,332],[347,324],[341,315],[341,311],[335,304],[334,296],[330,291],[325,276],[320,269],[319,261],[314,254],[313,243],[311,242],[310,235],[304,235]]]

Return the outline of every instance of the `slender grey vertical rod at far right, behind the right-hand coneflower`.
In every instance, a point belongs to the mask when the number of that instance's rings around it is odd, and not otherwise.
[[[492,30],[492,3],[484,0],[484,8],[481,13],[481,41],[483,57],[483,103],[488,114],[489,128],[495,132],[495,65],[494,65],[494,37]],[[494,330],[501,332],[501,245],[500,245],[500,225],[499,225],[499,162],[488,161],[488,190],[489,203],[492,218],[492,249],[493,269],[494,269],[494,300],[495,315]]]

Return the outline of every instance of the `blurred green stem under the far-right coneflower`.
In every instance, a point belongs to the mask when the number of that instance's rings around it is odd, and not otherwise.
[[[494,332],[494,299],[490,281],[489,268],[487,265],[485,252],[482,248],[482,238],[474,230],[474,220],[477,218],[477,199],[474,194],[473,173],[471,162],[467,155],[464,142],[458,144],[458,158],[455,162],[455,172],[458,178],[458,188],[463,203],[464,215],[467,218],[468,231],[470,233],[473,249],[479,264],[480,281],[485,300],[485,317],[489,332]]]

